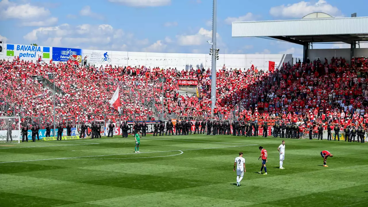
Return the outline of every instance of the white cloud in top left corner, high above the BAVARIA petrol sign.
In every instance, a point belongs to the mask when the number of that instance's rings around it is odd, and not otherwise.
[[[1,1],[0,6],[3,8],[0,10],[0,17],[4,19],[29,19],[46,17],[50,15],[50,11],[45,7],[32,6],[31,4],[10,3],[7,0]]]

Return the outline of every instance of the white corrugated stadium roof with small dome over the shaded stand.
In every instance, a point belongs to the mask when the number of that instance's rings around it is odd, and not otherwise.
[[[300,20],[233,22],[233,37],[268,37],[305,45],[309,42],[368,40],[368,17],[333,18],[326,13],[308,14]]]

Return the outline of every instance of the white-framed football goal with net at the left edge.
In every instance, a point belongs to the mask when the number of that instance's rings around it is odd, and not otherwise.
[[[0,117],[0,143],[20,143],[20,117]]]

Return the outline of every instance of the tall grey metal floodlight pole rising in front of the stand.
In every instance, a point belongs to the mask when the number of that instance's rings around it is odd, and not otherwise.
[[[216,104],[216,12],[217,0],[213,0],[212,16],[212,69],[211,69],[211,117]]]

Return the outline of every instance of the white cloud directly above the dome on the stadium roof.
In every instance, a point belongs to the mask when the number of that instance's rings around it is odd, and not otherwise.
[[[341,11],[327,3],[325,0],[318,0],[316,3],[311,1],[300,1],[299,3],[283,4],[281,6],[272,7],[270,14],[274,17],[302,18],[307,14],[314,12],[324,12],[334,17],[341,16]]]

